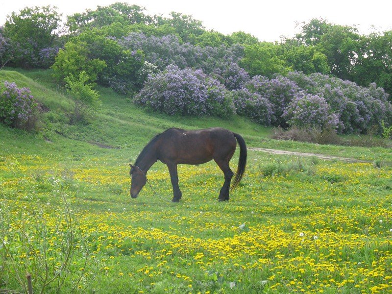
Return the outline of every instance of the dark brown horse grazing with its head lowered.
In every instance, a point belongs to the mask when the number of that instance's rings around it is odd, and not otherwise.
[[[224,184],[218,199],[219,201],[229,200],[230,181],[234,174],[230,170],[229,161],[236,150],[237,142],[240,145],[240,159],[231,186],[232,190],[240,183],[246,166],[246,145],[239,134],[220,127],[213,127],[195,131],[170,128],[156,135],[143,148],[135,165],[130,165],[131,197],[138,196],[147,183],[147,171],[160,160],[168,166],[170,172],[173,186],[172,201],[178,202],[182,193],[178,187],[177,164],[202,164],[214,159],[224,173]]]

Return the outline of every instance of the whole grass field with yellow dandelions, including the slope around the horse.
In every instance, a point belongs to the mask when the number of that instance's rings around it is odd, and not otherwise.
[[[148,114],[100,88],[88,124],[68,125],[68,103],[48,71],[0,72],[49,107],[38,134],[0,125],[0,293],[392,292],[391,150],[280,142],[234,117]],[[214,163],[148,172],[129,196],[128,163],[168,127],[223,126],[248,146],[373,163],[248,152],[230,201],[218,202]],[[112,148],[102,148],[97,146]],[[231,161],[236,169],[238,153]]]

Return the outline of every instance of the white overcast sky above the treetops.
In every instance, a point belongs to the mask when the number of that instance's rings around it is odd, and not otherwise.
[[[0,0],[0,25],[13,11],[24,7],[54,5],[63,17],[116,0]],[[225,35],[244,31],[260,41],[279,41],[294,37],[295,23],[324,18],[338,25],[355,25],[362,34],[392,30],[392,0],[119,0],[146,7],[147,14],[169,16],[172,11],[192,15],[207,29]],[[372,29],[372,27],[374,27]]]

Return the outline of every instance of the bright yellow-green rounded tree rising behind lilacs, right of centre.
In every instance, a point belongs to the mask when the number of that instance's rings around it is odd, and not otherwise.
[[[263,75],[271,77],[276,73],[284,74],[290,69],[285,61],[278,56],[279,45],[262,42],[245,46],[245,57],[239,65],[251,76]]]

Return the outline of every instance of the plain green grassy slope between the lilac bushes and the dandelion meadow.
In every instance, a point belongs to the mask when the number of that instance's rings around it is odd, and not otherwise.
[[[4,138],[1,142],[3,150],[18,146],[19,141],[21,141],[19,145],[24,146],[23,142],[26,138],[30,138],[34,144],[29,144],[25,152],[33,151],[34,146],[38,146],[37,148],[44,152],[50,149],[47,146],[48,142],[54,143],[54,146],[57,144],[73,146],[77,141],[89,148],[92,146],[98,149],[99,146],[125,148],[128,149],[127,153],[133,157],[140,152],[150,138],[167,128],[197,129],[220,126],[242,134],[247,145],[252,147],[314,152],[366,160],[376,160],[380,157],[392,160],[390,150],[385,148],[339,147],[272,140],[269,139],[271,128],[252,123],[239,116],[222,120],[214,117],[172,117],[148,113],[135,106],[130,98],[103,87],[98,87],[102,101],[98,111],[87,123],[72,125],[69,124],[67,118],[70,109],[67,94],[53,80],[50,70],[19,70],[18,72],[2,70],[0,81],[4,80],[15,82],[18,87],[29,87],[45,112],[41,115],[43,123],[38,134],[26,134],[1,126],[0,135]]]

